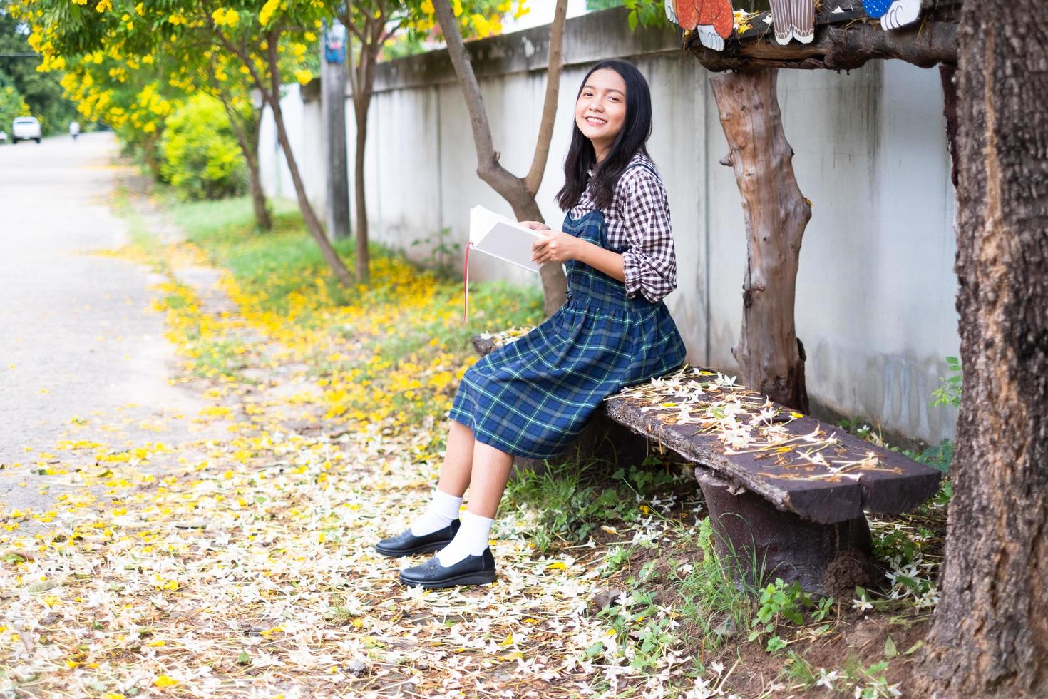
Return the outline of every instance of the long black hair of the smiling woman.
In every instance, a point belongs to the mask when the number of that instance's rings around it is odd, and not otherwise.
[[[578,203],[580,197],[589,183],[589,170],[591,168],[595,169],[593,173],[593,203],[597,209],[606,209],[611,204],[619,176],[633,156],[637,152],[648,155],[646,144],[649,136],[652,135],[651,91],[648,89],[648,81],[632,63],[616,59],[597,63],[590,68],[586,78],[583,79],[582,85],[578,86],[575,103],[578,103],[578,96],[583,93],[583,88],[589,81],[589,77],[603,68],[614,70],[621,75],[626,83],[626,119],[623,122],[623,129],[615,136],[615,141],[611,145],[607,157],[597,166],[593,143],[578,129],[578,125],[574,122],[574,110],[572,110],[571,146],[568,148],[568,156],[564,160],[564,188],[556,193],[556,203],[563,211]]]

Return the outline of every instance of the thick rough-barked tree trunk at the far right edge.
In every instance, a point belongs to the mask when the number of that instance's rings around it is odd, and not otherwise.
[[[1046,26],[1042,0],[962,9],[955,269],[964,380],[924,695],[1048,695]]]

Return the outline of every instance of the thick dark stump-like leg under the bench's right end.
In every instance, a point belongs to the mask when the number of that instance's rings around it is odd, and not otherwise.
[[[777,577],[811,594],[842,596],[873,574],[866,517],[818,524],[784,512],[759,495],[730,492],[704,468],[695,469],[709,509],[716,550],[732,576],[747,586]]]

